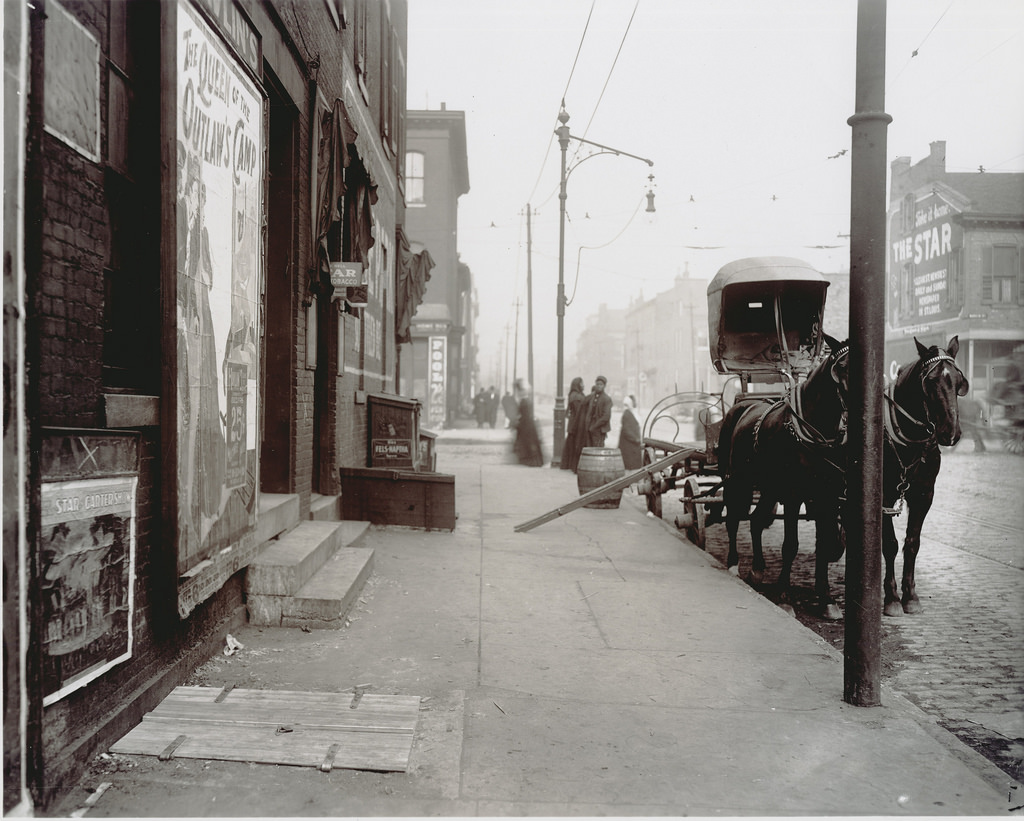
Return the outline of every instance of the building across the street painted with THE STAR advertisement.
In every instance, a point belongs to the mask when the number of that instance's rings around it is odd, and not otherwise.
[[[913,338],[945,346],[982,397],[999,360],[1024,344],[1024,174],[946,171],[946,143],[892,162],[886,352],[889,376]]]

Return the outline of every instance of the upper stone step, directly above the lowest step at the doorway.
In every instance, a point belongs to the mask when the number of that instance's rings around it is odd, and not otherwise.
[[[339,548],[354,544],[367,522],[304,521],[268,542],[249,565],[246,593],[294,596]]]

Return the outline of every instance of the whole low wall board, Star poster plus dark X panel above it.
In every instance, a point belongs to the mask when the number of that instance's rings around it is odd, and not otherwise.
[[[138,437],[49,429],[40,462],[48,705],[131,658]]]

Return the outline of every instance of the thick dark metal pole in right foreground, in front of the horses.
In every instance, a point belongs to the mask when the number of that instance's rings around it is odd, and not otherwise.
[[[843,698],[881,699],[882,428],[885,388],[886,0],[857,5],[850,195],[850,465]]]

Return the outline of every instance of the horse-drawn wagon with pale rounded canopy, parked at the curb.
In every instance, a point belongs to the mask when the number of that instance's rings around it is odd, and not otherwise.
[[[666,494],[678,496],[675,524],[700,548],[708,525],[723,518],[722,419],[735,403],[782,396],[814,368],[827,289],[817,270],[790,257],[735,260],[708,286],[710,355],[727,379],[720,392],[674,393],[654,404],[642,429],[647,471],[637,482],[655,516]]]

